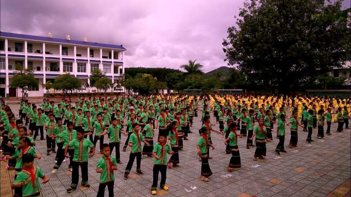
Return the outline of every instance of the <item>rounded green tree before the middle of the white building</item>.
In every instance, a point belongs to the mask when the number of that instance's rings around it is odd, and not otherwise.
[[[69,73],[66,73],[56,77],[52,87],[55,90],[61,90],[64,95],[64,99],[66,98],[66,95],[69,95],[69,100],[71,100],[72,92],[74,90],[80,90],[82,87],[82,82],[79,79],[72,77]]]

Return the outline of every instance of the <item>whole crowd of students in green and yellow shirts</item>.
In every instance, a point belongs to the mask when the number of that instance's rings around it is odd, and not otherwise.
[[[200,136],[197,143],[199,161],[202,162],[201,180],[209,181],[212,174],[208,162],[211,159],[209,150],[210,147],[214,148],[211,132],[222,134],[222,137],[225,138],[225,152],[231,154],[228,170],[232,171],[241,167],[238,138],[247,137],[246,148],[248,149],[256,146],[255,161],[258,158],[265,159],[266,143],[273,140],[272,132],[275,124],[277,125],[277,138],[279,138],[276,152],[280,154],[280,152],[286,152],[284,149],[286,125],[291,124],[289,147],[293,148],[298,144],[298,126],[303,127],[305,132],[308,131],[306,139],[308,143],[313,142],[311,134],[313,128],[317,126],[317,138],[324,137],[325,119],[327,135],[330,135],[330,124],[333,121],[338,121],[337,132],[342,132],[344,124],[348,128],[350,107],[349,100],[345,99],[287,96],[113,96],[110,98],[79,98],[75,104],[63,99],[57,105],[54,101],[44,99],[38,106],[22,100],[19,103],[19,118],[16,120],[5,101],[2,100],[0,103],[2,152],[8,160],[8,167],[14,167],[18,174],[24,169],[25,163],[22,161],[24,156],[27,158],[25,161],[31,162],[32,166],[34,158],[41,158],[40,155],[35,154],[33,145],[38,135],[40,135],[40,140],[45,140],[45,129],[47,155],[56,153],[52,172],[60,168],[62,162],[65,162],[65,157],[69,158],[72,182],[67,192],[72,192],[77,187],[79,167],[82,171],[82,185],[90,187],[88,158],[94,155],[96,143],[100,141],[102,157],[97,162],[96,172],[101,173],[101,177],[97,196],[104,195],[106,186],[109,195],[113,196],[113,171],[117,169],[118,163],[122,163],[120,158],[121,134],[126,136],[123,151],[126,151],[127,146],[131,148],[124,179],[128,179],[135,159],[136,173],[143,174],[142,155],[154,157],[151,193],[156,194],[159,172],[161,172],[160,186],[168,190],[165,185],[167,167],[179,166],[179,150],[185,147],[183,140],[188,140],[188,134],[192,133],[190,127],[193,118],[198,116],[198,108],[201,108],[202,111],[202,126],[199,129]],[[286,123],[289,108],[291,110],[290,120]],[[219,123],[219,130],[212,127],[215,125],[211,123],[210,114],[212,113],[216,122]],[[300,118],[301,124],[298,121]],[[27,127],[23,126],[23,120],[26,125],[29,124],[28,132]],[[255,126],[256,121],[258,121],[257,126]],[[155,138],[154,129],[159,130],[158,138]],[[104,141],[105,135],[108,135],[108,144]],[[254,138],[255,144],[253,144]],[[154,144],[154,140],[157,140],[158,143]],[[115,156],[111,156],[113,149],[115,149]],[[171,155],[169,160],[167,154]],[[3,157],[2,160],[4,159]],[[40,168],[35,169],[38,173],[37,177],[47,182],[48,178],[44,176]],[[31,177],[32,180],[37,180],[37,177]],[[16,175],[15,180],[17,179]],[[18,182],[20,181],[15,181],[15,183]],[[17,196],[27,196],[24,193],[29,192],[29,186],[27,186],[29,183],[24,183],[27,184],[13,185]],[[34,187],[35,183],[32,186],[33,196],[35,196],[40,191],[40,186]]]

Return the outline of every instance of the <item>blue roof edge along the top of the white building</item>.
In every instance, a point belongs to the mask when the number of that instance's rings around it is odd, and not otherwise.
[[[26,40],[37,40],[37,41],[45,41],[45,42],[59,42],[59,43],[67,43],[69,45],[81,45],[81,46],[96,47],[96,48],[109,48],[109,49],[126,50],[126,48],[124,48],[122,45],[109,45],[109,44],[98,43],[98,42],[67,40],[67,39],[62,39],[62,38],[50,38],[50,37],[44,37],[44,36],[16,34],[16,33],[2,32],[2,31],[0,31],[0,37],[18,38],[18,39],[26,39]]]

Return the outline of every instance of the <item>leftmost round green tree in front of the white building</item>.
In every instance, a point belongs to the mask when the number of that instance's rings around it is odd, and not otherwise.
[[[29,86],[37,86],[38,80],[35,79],[33,75],[33,71],[28,69],[18,68],[18,71],[12,77],[12,81],[10,86],[19,88],[22,90],[22,99],[24,99],[25,95],[28,92]]]

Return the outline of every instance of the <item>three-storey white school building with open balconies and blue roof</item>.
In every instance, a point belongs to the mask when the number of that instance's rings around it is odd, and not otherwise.
[[[122,45],[71,40],[69,35],[61,39],[50,34],[44,37],[0,32],[0,95],[22,95],[21,90],[10,86],[12,76],[21,68],[32,70],[38,80],[38,86],[28,88],[28,97],[49,93],[42,85],[64,73],[90,84],[91,72],[100,69],[112,83],[119,83],[124,74],[125,51]]]

